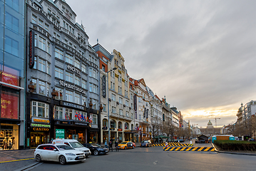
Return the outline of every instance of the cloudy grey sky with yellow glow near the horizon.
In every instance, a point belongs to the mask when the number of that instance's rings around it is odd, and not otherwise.
[[[91,46],[98,38],[119,51],[128,75],[191,125],[235,123],[241,103],[256,100],[256,1],[66,2]]]

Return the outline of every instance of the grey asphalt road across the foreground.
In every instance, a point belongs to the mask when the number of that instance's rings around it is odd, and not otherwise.
[[[135,147],[135,149],[91,155],[84,162],[60,165],[43,162],[33,171],[50,170],[256,170],[256,156],[231,155],[217,152],[165,152],[163,147]],[[1,166],[1,165],[0,165]],[[1,169],[0,169],[1,170]]]

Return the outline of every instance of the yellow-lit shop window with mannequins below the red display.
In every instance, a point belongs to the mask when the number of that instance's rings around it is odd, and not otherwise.
[[[16,124],[1,123],[0,150],[19,149],[19,126]]]

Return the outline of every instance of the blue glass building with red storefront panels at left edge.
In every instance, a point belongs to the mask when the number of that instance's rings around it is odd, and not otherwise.
[[[24,6],[0,0],[0,150],[25,147]]]

